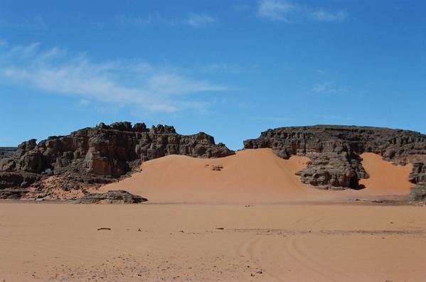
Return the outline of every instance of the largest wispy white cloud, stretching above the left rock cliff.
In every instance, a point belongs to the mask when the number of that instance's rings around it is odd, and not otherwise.
[[[228,90],[187,77],[174,67],[140,61],[94,63],[87,55],[69,56],[60,48],[41,50],[39,43],[0,53],[0,80],[75,95],[81,101],[138,105],[155,112],[202,109],[207,103],[196,102],[194,95]]]

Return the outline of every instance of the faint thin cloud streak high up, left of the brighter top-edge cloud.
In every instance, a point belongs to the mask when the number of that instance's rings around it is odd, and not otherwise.
[[[145,16],[117,15],[115,19],[122,27],[136,26],[138,28],[144,28],[154,24],[162,24],[171,27],[191,26],[193,28],[200,28],[211,26],[217,22],[216,18],[206,13],[188,13],[184,18],[171,19],[161,16],[159,12],[155,12]]]

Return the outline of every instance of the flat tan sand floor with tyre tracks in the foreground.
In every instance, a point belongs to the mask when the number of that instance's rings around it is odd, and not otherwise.
[[[425,281],[426,210],[1,203],[0,254],[8,282]]]

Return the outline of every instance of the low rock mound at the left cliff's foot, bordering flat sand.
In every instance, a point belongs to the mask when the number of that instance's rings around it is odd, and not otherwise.
[[[70,202],[74,204],[139,204],[147,202],[147,199],[125,190],[110,190],[105,193],[89,193]]]

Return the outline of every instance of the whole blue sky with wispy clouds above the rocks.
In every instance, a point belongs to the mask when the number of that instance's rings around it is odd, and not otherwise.
[[[100,121],[426,133],[425,1],[0,1],[0,146]]]

